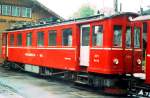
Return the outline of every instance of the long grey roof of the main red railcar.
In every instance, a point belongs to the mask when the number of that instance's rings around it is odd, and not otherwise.
[[[64,25],[64,24],[72,24],[72,23],[86,23],[86,22],[91,22],[91,21],[97,21],[97,20],[104,20],[104,19],[111,19],[114,17],[118,16],[131,16],[131,17],[137,17],[139,14],[133,13],[133,12],[125,12],[125,13],[118,13],[114,14],[111,16],[104,16],[104,14],[100,15],[95,15],[95,16],[90,16],[90,17],[84,17],[84,18],[77,18],[77,19],[71,19],[71,20],[65,20],[62,22],[53,22],[53,23],[47,23],[47,24],[36,24],[36,25],[25,25],[21,28],[15,28],[15,29],[7,29],[5,32],[10,32],[10,31],[20,31],[20,30],[25,30],[25,29],[32,29],[32,28],[45,28],[49,26],[59,26],[59,25]]]

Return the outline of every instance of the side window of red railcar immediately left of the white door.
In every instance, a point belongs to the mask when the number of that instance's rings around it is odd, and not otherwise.
[[[63,30],[62,45],[63,46],[72,46],[72,30],[71,29]]]

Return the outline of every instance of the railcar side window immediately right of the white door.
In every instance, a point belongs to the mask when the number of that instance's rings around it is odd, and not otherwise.
[[[103,26],[93,26],[92,44],[93,46],[103,45]]]

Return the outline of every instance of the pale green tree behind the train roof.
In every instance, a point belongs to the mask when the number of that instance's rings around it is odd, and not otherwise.
[[[90,5],[83,5],[73,14],[73,18],[89,17],[93,16],[94,13],[95,11]]]

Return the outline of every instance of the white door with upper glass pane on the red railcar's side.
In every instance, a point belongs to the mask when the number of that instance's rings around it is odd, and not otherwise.
[[[89,66],[89,35],[90,25],[82,25],[80,27],[80,65]]]

